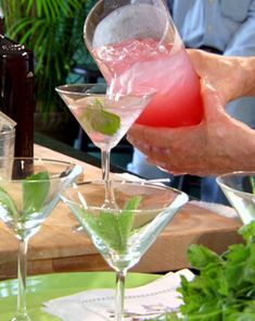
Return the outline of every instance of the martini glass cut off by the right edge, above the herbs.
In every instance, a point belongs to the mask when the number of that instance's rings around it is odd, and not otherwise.
[[[255,221],[255,172],[232,172],[216,178],[241,221]]]

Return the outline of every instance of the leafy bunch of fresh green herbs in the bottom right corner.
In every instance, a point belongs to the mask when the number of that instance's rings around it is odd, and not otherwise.
[[[188,258],[197,275],[192,282],[181,276],[182,317],[166,314],[153,321],[255,320],[255,222],[239,233],[244,243],[229,246],[222,255],[202,245],[189,248]]]

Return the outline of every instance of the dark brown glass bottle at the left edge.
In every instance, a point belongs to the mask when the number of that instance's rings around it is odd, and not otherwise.
[[[16,125],[15,156],[34,156],[34,54],[4,36],[0,17],[0,110]]]

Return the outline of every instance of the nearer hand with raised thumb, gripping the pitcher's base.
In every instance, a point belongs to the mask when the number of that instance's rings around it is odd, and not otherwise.
[[[168,128],[135,124],[128,140],[152,164],[199,176],[255,170],[255,132],[230,118],[217,91],[202,81],[204,119],[195,126]]]

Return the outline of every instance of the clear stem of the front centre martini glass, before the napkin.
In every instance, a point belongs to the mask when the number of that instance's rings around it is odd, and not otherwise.
[[[127,272],[118,271],[116,273],[116,293],[115,293],[115,321],[124,321],[124,298],[125,280]]]

